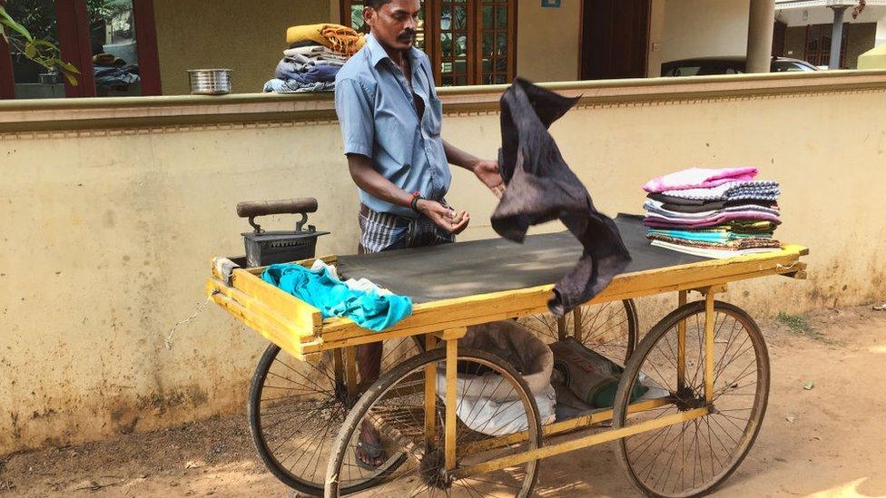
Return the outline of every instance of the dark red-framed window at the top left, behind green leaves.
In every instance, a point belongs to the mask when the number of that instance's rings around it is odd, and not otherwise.
[[[25,57],[21,44],[0,44],[0,58],[11,61],[0,64],[0,98],[161,93],[153,0],[15,0],[5,7],[34,37],[58,46],[81,74],[71,85]]]

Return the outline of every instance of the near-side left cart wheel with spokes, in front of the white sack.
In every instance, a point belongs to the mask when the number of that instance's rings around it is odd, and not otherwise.
[[[458,477],[446,472],[444,435],[446,408],[440,400],[442,382],[435,382],[434,433],[426,441],[425,431],[425,375],[426,367],[436,366],[439,375],[445,375],[446,351],[433,349],[409,358],[393,370],[379,377],[360,397],[341,426],[333,446],[332,458],[326,474],[326,496],[340,496],[355,491],[366,491],[378,496],[528,496],[532,493],[538,473],[538,461],[515,464],[501,471]],[[458,351],[459,376],[498,376],[481,392],[478,401],[468,409],[467,399],[461,393],[471,381],[460,382],[457,395],[458,417],[456,427],[457,468],[480,464],[493,458],[524,454],[541,446],[541,423],[535,398],[523,377],[501,358],[477,349]],[[436,380],[436,376],[434,377]],[[484,377],[488,379],[489,377]],[[486,382],[489,382],[486,380]],[[483,391],[486,389],[484,388]],[[517,400],[496,405],[487,398]],[[464,413],[467,411],[468,413]],[[525,422],[524,422],[525,421]],[[499,433],[523,430],[520,437],[502,441],[490,430],[490,423],[498,424]],[[468,425],[466,425],[468,424]],[[374,427],[380,435],[385,457],[408,455],[407,461],[390,471],[383,481],[366,482],[366,470],[357,464],[356,452],[364,427]],[[475,432],[482,431],[482,432]],[[369,489],[371,488],[371,489]]]

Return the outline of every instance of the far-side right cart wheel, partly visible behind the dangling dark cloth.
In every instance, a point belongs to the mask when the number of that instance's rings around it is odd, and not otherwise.
[[[620,365],[625,365],[627,359],[634,353],[637,343],[637,319],[634,299],[624,301],[606,301],[597,305],[585,305],[577,308],[581,323],[580,342],[588,349],[606,356]],[[563,317],[563,325],[558,323],[554,315],[531,315],[522,318],[522,323],[528,329],[536,332],[546,343],[552,343],[559,339],[559,327],[568,336],[575,334],[576,313],[567,313]]]

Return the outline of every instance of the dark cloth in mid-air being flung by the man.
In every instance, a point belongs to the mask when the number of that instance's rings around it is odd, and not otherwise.
[[[561,220],[583,247],[576,267],[556,283],[547,303],[557,317],[596,296],[631,261],[615,222],[594,208],[547,132],[577,100],[520,78],[501,97],[498,163],[507,189],[492,213],[492,228],[523,242],[530,225]]]

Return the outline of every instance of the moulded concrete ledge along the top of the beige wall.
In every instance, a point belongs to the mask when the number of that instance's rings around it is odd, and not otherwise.
[[[579,105],[743,98],[886,88],[886,71],[738,74],[542,83]],[[440,88],[444,112],[497,112],[507,85]],[[0,133],[139,129],[223,123],[334,121],[332,93],[235,93],[0,102]]]

